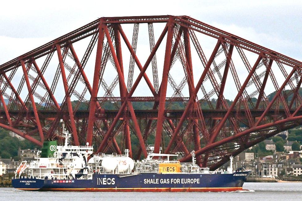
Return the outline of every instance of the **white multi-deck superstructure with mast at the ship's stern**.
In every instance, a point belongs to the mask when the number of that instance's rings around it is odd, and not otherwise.
[[[89,179],[87,161],[93,153],[93,146],[70,145],[71,134],[66,131],[63,132],[63,137],[64,146],[50,145],[49,149],[54,153],[47,157],[41,157],[41,151],[38,151],[36,160],[20,164],[16,176],[26,171],[28,176],[41,179]]]

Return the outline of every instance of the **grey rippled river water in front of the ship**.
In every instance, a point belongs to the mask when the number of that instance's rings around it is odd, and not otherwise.
[[[166,201],[166,200],[302,200],[302,183],[244,183],[240,192],[50,192],[22,191],[14,188],[0,188],[0,201]]]

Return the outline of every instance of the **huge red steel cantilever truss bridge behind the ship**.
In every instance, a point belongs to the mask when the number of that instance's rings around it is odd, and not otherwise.
[[[64,122],[73,144],[134,159],[152,136],[216,169],[301,125],[301,68],[189,16],[102,17],[0,65],[0,127],[41,146]]]

